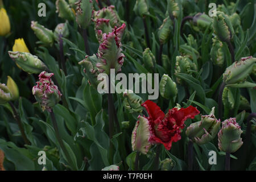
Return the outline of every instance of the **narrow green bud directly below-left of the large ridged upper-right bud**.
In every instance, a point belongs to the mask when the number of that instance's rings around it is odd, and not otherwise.
[[[222,67],[225,60],[225,51],[223,47],[223,43],[218,40],[216,37],[212,39],[213,44],[212,48],[210,49],[210,57],[213,61],[214,65],[218,67]]]

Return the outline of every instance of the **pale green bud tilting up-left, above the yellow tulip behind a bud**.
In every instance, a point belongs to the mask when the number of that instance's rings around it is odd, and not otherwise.
[[[44,44],[52,46],[54,42],[53,32],[48,28],[42,26],[38,22],[31,22],[31,28],[35,32],[37,38]]]

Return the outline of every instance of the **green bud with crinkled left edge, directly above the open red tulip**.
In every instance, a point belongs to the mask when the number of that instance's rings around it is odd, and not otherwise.
[[[177,86],[172,79],[164,74],[159,83],[159,91],[162,97],[170,100],[177,96]]]

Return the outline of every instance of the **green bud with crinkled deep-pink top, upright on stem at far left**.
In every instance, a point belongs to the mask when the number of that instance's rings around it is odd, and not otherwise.
[[[53,73],[43,71],[39,75],[39,81],[36,86],[32,88],[32,94],[35,96],[36,101],[39,102],[42,110],[52,111],[52,107],[59,103],[61,93],[56,85],[54,85],[51,77]]]

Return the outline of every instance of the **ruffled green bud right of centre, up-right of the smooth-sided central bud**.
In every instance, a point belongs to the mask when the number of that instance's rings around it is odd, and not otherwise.
[[[187,56],[176,56],[175,73],[191,74],[191,70],[197,71],[196,64]],[[180,78],[176,78],[178,84],[183,84]]]

